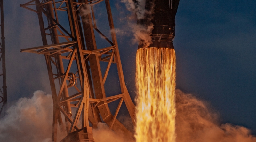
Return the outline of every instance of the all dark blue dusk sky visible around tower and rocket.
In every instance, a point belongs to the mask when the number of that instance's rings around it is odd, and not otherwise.
[[[125,28],[130,12],[120,1],[110,1],[125,82],[134,98],[138,45],[132,43],[133,35]],[[20,97],[31,97],[36,90],[51,93],[44,56],[19,52],[42,45],[36,14],[19,6],[26,2],[4,0],[9,106]],[[100,8],[97,12],[100,13]],[[245,126],[253,134],[256,134],[255,13],[253,0],[180,0],[174,39],[177,88],[209,102],[219,113],[221,123]],[[100,14],[97,17],[99,23],[104,19]]]

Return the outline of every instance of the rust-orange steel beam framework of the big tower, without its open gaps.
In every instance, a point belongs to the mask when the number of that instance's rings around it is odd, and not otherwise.
[[[40,0],[41,1],[41,0]],[[86,2],[86,4],[83,4],[80,7],[80,9],[77,9],[78,6],[74,6],[77,3],[77,0],[66,0],[62,1],[62,4],[66,4],[66,6],[61,9],[62,11],[65,10],[67,11],[67,16],[68,16],[68,21],[69,21],[69,27],[70,27],[70,34],[67,32],[66,29],[64,29],[59,23],[58,23],[58,14],[56,9],[58,6],[55,4],[55,0],[44,0],[41,1],[40,3],[39,0],[35,1],[30,1],[26,4],[21,4],[22,7],[27,8],[31,11],[37,12],[38,14],[38,19],[39,19],[39,25],[40,25],[40,30],[41,30],[41,35],[42,35],[42,40],[43,44],[47,45],[47,39],[46,35],[51,35],[52,39],[52,44],[58,44],[59,43],[59,37],[65,36],[64,33],[62,33],[60,30],[62,29],[74,42],[72,46],[73,48],[68,47],[68,50],[66,47],[63,47],[61,45],[60,47],[53,46],[52,49],[40,49],[41,51],[33,51],[33,53],[39,53],[42,54],[44,51],[44,56],[47,64],[47,70],[48,70],[48,75],[50,79],[50,85],[52,89],[52,97],[53,97],[53,129],[52,129],[52,141],[56,142],[57,141],[57,123],[59,122],[61,130],[64,130],[60,111],[64,114],[65,116],[65,121],[66,121],[66,129],[68,133],[71,133],[73,131],[76,131],[80,128],[77,127],[77,122],[79,121],[79,118],[82,117],[82,129],[84,127],[89,127],[89,121],[93,124],[93,126],[97,126],[98,122],[101,122],[102,120],[107,123],[114,131],[122,131],[126,134],[126,136],[131,137],[133,134],[128,131],[124,125],[122,125],[117,119],[117,114],[118,111],[121,107],[122,102],[124,101],[128,111],[130,113],[130,116],[132,117],[132,120],[134,119],[134,104],[132,103],[132,100],[129,96],[129,93],[127,91],[127,88],[125,86],[124,82],[124,76],[123,76],[123,70],[121,66],[121,60],[120,60],[120,55],[119,55],[119,50],[117,46],[117,40],[116,40],[116,34],[114,31],[114,24],[113,24],[113,19],[112,19],[112,14],[110,10],[110,4],[108,0],[105,0],[106,3],[106,8],[107,8],[107,15],[108,15],[108,21],[109,21],[109,26],[111,30],[111,37],[112,37],[112,42],[108,40],[106,37],[105,39],[112,45],[113,49],[111,50],[106,50],[106,51],[101,51],[100,55],[99,54],[94,54],[90,53],[87,55],[84,55],[87,51],[85,50],[97,50],[96,46],[96,39],[94,36],[94,28],[96,28],[95,24],[95,18],[94,18],[94,13],[93,13],[93,2],[90,2],[88,0],[78,0],[78,3],[82,4]],[[36,2],[36,11],[33,9],[30,9],[26,6],[30,5],[29,3]],[[91,5],[92,4],[92,5]],[[91,8],[91,9],[90,9]],[[85,12],[85,14],[82,13],[83,10],[87,10],[88,12]],[[60,10],[60,9],[59,9]],[[46,15],[47,20],[48,20],[48,28],[45,29],[44,27],[44,21],[42,18],[42,12]],[[80,21],[80,16],[82,21]],[[92,21],[92,17],[94,22]],[[60,18],[60,17],[59,17]],[[61,21],[61,20],[60,20]],[[50,30],[50,34],[46,34],[45,31]],[[58,35],[57,30],[62,35]],[[99,33],[101,33],[98,29],[96,29]],[[84,36],[83,37],[83,33]],[[104,36],[101,33],[102,36]],[[69,37],[65,36],[65,39],[69,41]],[[85,41],[84,41],[85,38]],[[61,41],[61,40],[60,40]],[[86,45],[86,48],[85,48]],[[48,47],[48,46],[47,46]],[[50,47],[50,46],[49,46]],[[61,49],[63,48],[63,49]],[[57,51],[56,51],[57,50]],[[59,52],[61,50],[61,52]],[[73,50],[73,51],[72,51]],[[45,52],[46,51],[46,52]],[[72,55],[71,55],[72,51]],[[99,50],[98,50],[99,51]],[[112,53],[111,53],[112,51]],[[96,51],[95,51],[96,52]],[[108,53],[106,53],[108,52]],[[62,55],[61,55],[62,54]],[[68,56],[66,56],[68,54]],[[105,71],[104,77],[102,77],[102,72],[101,72],[101,66],[100,66],[100,61],[101,61],[101,55],[106,54],[109,55],[109,62],[108,62],[108,67]],[[71,57],[70,57],[71,55]],[[77,91],[79,91],[79,94],[81,97],[72,99],[72,97],[75,96],[69,96],[68,94],[68,87],[72,87],[71,82],[67,86],[67,82],[70,78],[68,73],[71,67],[71,63],[74,62],[73,59],[75,57],[76,60],[76,65],[77,65],[77,70],[79,74],[79,80],[80,80],[80,86],[81,86],[81,92],[80,89],[78,89],[76,86]],[[52,58],[55,58],[55,62],[52,60]],[[64,65],[62,63],[63,59],[69,59],[68,67],[67,70],[64,71]],[[106,57],[105,57],[106,58]],[[89,104],[89,98],[92,100],[101,100],[103,98],[106,98],[105,94],[105,88],[104,88],[104,82],[107,78],[108,71],[110,69],[110,66],[112,64],[112,60],[116,61],[117,68],[118,68],[118,75],[119,75],[119,80],[120,80],[120,85],[121,85],[121,92],[124,94],[122,96],[121,101],[118,105],[118,108],[116,109],[116,113],[113,116],[110,112],[110,109],[108,107],[108,103],[112,102],[111,100],[104,100],[104,101],[97,101],[95,102],[90,102]],[[102,60],[103,61],[103,60]],[[57,74],[53,74],[52,70],[52,63],[56,66],[57,68]],[[65,65],[66,66],[66,65]],[[56,77],[54,77],[54,75]],[[54,79],[59,79],[60,82],[60,90],[57,92],[56,90],[56,84]],[[71,92],[69,92],[71,93]],[[57,95],[58,94],[58,95]],[[62,100],[62,101],[61,101]],[[65,100],[65,101],[63,101]],[[72,102],[70,105],[69,100]],[[76,102],[74,102],[76,101]],[[62,106],[64,108],[62,108]],[[70,117],[71,114],[71,109],[70,106],[72,107],[77,107],[76,113],[73,117],[73,119]],[[70,110],[70,111],[69,111]],[[70,113],[69,113],[70,112]],[[101,117],[101,118],[100,118]],[[70,124],[71,123],[71,124]],[[69,125],[67,125],[69,124]],[[76,129],[76,130],[75,130]],[[82,130],[80,129],[80,130]]]

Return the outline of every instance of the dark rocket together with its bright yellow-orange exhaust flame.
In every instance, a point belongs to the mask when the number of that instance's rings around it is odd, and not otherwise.
[[[137,142],[175,142],[175,15],[179,0],[147,0],[153,11],[138,24],[154,25],[151,41],[141,41],[136,56]]]

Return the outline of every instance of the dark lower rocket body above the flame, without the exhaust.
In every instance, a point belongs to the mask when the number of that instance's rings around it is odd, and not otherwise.
[[[137,20],[137,24],[154,25],[149,47],[174,48],[172,41],[175,36],[175,16],[179,2],[180,0],[146,0],[145,9],[153,9],[153,14],[145,15],[144,19]],[[143,47],[140,43],[138,49]]]

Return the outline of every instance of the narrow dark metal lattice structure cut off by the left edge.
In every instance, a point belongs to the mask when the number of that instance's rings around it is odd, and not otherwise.
[[[0,62],[2,62],[2,74],[0,76],[3,77],[3,91],[0,88],[0,115],[4,110],[4,106],[7,104],[7,86],[6,86],[6,69],[5,69],[5,37],[4,37],[4,4],[3,0],[0,0],[0,12],[1,12],[1,43],[0,43]],[[5,110],[4,110],[5,111]],[[3,112],[4,112],[3,111]],[[3,113],[2,113],[3,114]]]

